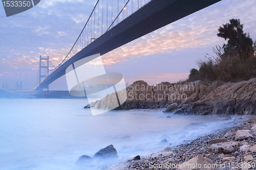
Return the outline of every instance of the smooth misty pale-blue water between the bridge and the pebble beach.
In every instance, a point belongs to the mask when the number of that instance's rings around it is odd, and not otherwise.
[[[110,111],[92,116],[83,99],[0,99],[0,169],[101,169],[215,130],[222,117],[181,116],[162,110]],[[172,116],[166,118],[166,116]],[[206,127],[184,128],[203,122]],[[167,136],[163,136],[167,135]],[[185,136],[184,136],[185,135]],[[125,137],[125,136],[130,136]],[[162,139],[168,143],[160,144]],[[119,158],[77,167],[81,155],[113,144]]]

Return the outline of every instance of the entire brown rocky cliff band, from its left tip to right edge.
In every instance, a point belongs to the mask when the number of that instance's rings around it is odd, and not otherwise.
[[[144,81],[136,81],[122,90],[127,94],[124,104],[115,110],[165,108],[177,103],[176,114],[255,114],[256,79],[239,83],[203,81],[168,83],[155,86]],[[104,109],[108,99],[115,94],[91,104]]]

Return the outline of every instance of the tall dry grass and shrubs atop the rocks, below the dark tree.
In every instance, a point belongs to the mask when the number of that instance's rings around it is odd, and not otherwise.
[[[250,52],[241,54],[232,48],[224,53],[220,46],[214,48],[216,56],[206,57],[206,61],[198,61],[199,71],[196,75],[189,75],[192,79],[212,82],[237,82],[256,77],[255,43]]]

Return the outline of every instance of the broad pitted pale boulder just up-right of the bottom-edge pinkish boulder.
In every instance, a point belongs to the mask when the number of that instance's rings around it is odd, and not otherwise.
[[[218,153],[232,153],[236,151],[240,146],[240,142],[238,141],[230,141],[230,142],[222,142],[222,143],[214,143],[210,145],[210,149],[212,152]]]

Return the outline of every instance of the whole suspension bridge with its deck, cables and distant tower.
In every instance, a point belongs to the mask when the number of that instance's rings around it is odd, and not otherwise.
[[[77,40],[60,64],[41,58],[37,90],[66,74],[66,68],[94,54],[106,54],[117,47],[151,33],[221,0],[98,0]],[[41,65],[42,60],[47,64]],[[50,62],[49,62],[50,61]],[[49,69],[49,63],[53,69]],[[46,74],[41,75],[41,68]],[[42,78],[42,79],[41,79]]]

